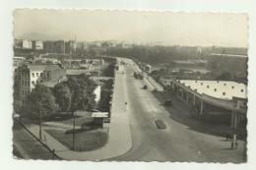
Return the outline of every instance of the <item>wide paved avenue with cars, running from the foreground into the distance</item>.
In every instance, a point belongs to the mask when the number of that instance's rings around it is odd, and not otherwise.
[[[242,162],[242,146],[229,149],[224,138],[203,134],[189,129],[169,117],[169,114],[151,92],[154,87],[147,79],[135,80],[133,73],[138,66],[125,60],[124,85],[127,94],[132,148],[113,160],[146,161],[197,161],[197,162]],[[143,89],[148,85],[148,89]],[[166,130],[159,130],[155,120],[164,120]]]

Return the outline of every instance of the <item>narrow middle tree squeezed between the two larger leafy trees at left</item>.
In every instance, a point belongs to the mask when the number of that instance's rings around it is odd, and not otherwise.
[[[71,91],[66,83],[60,83],[54,86],[53,93],[56,103],[61,111],[69,111],[71,105]]]

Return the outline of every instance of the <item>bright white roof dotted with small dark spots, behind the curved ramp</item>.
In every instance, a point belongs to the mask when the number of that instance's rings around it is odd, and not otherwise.
[[[247,98],[247,86],[228,81],[180,80],[180,84],[216,98],[231,100],[232,97]]]

